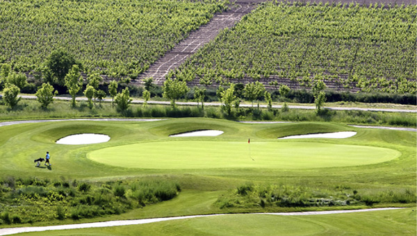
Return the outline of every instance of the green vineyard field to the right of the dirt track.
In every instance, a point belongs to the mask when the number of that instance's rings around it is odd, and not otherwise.
[[[324,80],[336,90],[415,94],[416,9],[268,2],[169,75],[202,85]]]

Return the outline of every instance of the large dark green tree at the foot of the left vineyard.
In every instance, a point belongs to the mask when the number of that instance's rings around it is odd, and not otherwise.
[[[63,49],[52,51],[46,62],[52,81],[58,85],[65,84],[65,76],[75,64],[74,56]]]

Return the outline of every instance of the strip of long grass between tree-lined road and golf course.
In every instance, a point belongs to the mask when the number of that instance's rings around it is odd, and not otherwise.
[[[416,127],[416,113],[400,112],[368,112],[361,110],[323,110],[316,114],[315,110],[290,109],[257,109],[233,108],[231,114],[224,113],[218,107],[206,106],[204,110],[195,106],[149,105],[144,108],[140,104],[131,104],[129,110],[121,114],[111,106],[111,103],[97,103],[92,109],[88,103],[81,101],[75,108],[69,101],[55,101],[47,109],[40,108],[40,104],[33,100],[22,100],[19,105],[10,109],[0,100],[0,120],[22,119],[54,119],[79,117],[207,117],[230,120],[263,120],[263,121],[330,121],[344,124],[368,124],[384,126]]]

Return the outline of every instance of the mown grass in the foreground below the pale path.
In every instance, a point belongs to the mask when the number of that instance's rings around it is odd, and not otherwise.
[[[136,226],[59,230],[22,235],[416,235],[410,208],[311,216],[233,214]]]

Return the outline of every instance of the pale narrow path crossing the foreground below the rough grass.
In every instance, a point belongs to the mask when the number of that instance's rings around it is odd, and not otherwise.
[[[318,214],[341,214],[341,213],[353,213],[353,212],[372,212],[377,210],[397,210],[403,208],[373,208],[373,209],[359,209],[359,210],[328,210],[318,212],[277,212],[277,213],[242,213],[242,214],[272,214],[281,216],[304,216],[304,215],[318,215]],[[149,224],[161,221],[172,221],[176,219],[192,219],[197,217],[217,217],[227,214],[199,214],[183,217],[163,217],[163,218],[151,218],[151,219],[131,219],[122,221],[104,221],[85,224],[67,224],[61,226],[41,226],[41,227],[20,227],[20,228],[0,228],[0,235],[13,235],[16,233],[29,233],[40,232],[47,230],[70,230],[76,228],[100,228],[100,227],[112,227],[112,226],[130,226],[137,224]],[[234,214],[236,215],[236,214]]]

